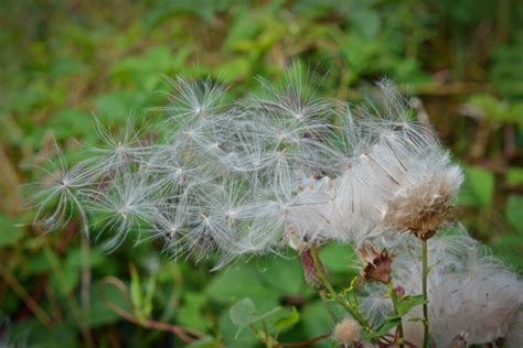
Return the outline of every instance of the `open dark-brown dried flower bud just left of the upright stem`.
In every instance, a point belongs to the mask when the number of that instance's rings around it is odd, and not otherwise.
[[[374,280],[385,284],[391,282],[392,257],[386,249],[380,252],[376,248],[367,246],[361,248],[357,252],[364,263],[360,275],[363,281]]]

